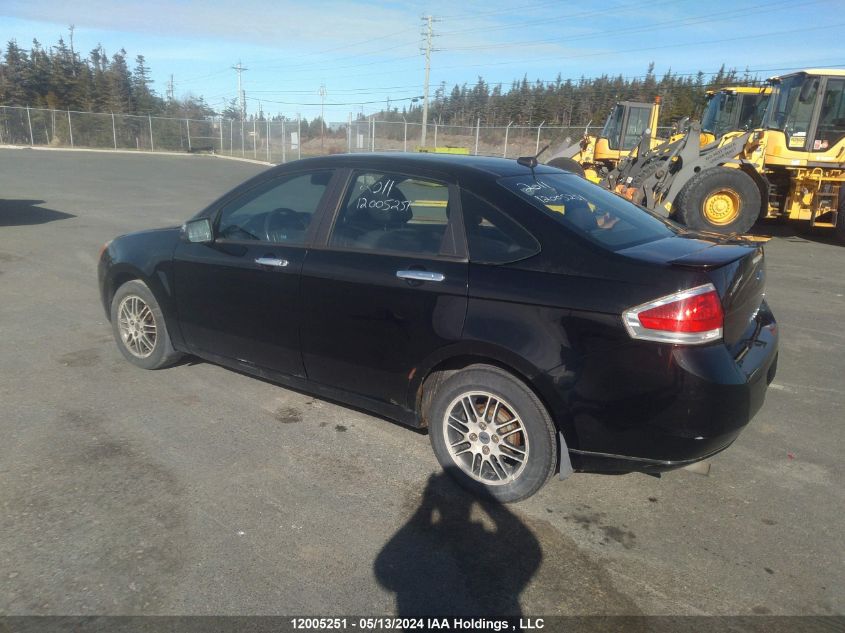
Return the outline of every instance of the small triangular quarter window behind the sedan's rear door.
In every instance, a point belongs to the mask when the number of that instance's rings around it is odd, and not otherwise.
[[[527,230],[478,196],[462,191],[461,210],[470,261],[507,264],[540,252],[540,245]]]

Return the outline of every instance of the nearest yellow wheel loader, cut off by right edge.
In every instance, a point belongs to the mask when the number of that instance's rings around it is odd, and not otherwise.
[[[809,220],[845,242],[845,70],[773,77],[763,121],[702,145],[682,137],[622,161],[605,184],[690,228],[745,233],[759,218]]]

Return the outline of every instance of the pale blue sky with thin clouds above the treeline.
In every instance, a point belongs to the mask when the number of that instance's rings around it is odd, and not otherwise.
[[[811,66],[845,66],[845,0],[2,0],[0,35],[69,40],[88,53],[143,54],[153,88],[202,95],[216,109],[237,94],[239,60],[247,109],[313,117],[325,85],[328,121],[400,108],[422,95],[423,15],[433,15],[431,85],[478,76],[529,80],[710,73],[721,64],[761,77]]]

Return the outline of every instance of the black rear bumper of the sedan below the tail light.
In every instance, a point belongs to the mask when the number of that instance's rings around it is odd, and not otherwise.
[[[763,406],[777,371],[777,324],[765,303],[749,334],[732,347],[632,345],[605,358],[600,375],[571,401],[573,467],[661,472],[730,446]]]

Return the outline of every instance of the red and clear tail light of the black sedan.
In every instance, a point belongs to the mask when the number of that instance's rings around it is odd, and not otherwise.
[[[699,345],[722,338],[725,315],[713,284],[676,292],[622,313],[631,338]]]

